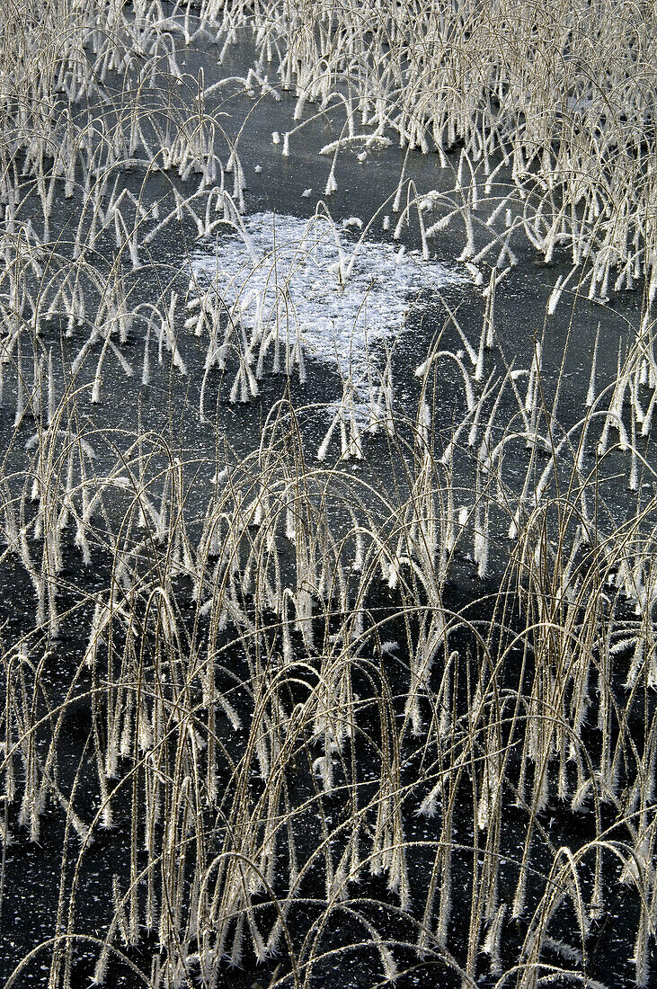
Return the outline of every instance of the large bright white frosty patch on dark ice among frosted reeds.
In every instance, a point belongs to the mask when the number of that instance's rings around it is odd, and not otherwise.
[[[243,218],[243,230],[198,245],[192,267],[252,337],[265,339],[278,326],[282,342],[299,339],[307,357],[337,363],[364,396],[381,344],[404,330],[418,297],[469,279],[419,252],[357,242],[346,232],[350,223],[255,213]]]

